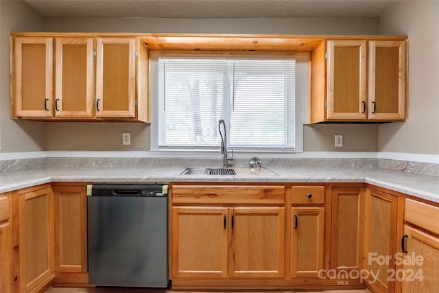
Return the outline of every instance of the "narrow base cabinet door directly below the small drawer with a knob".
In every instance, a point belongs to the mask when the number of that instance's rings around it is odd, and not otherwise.
[[[323,269],[324,208],[292,208],[291,277],[318,277]]]

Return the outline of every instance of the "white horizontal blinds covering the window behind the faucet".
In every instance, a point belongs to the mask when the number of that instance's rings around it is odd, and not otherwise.
[[[295,60],[158,58],[158,149],[295,147]]]

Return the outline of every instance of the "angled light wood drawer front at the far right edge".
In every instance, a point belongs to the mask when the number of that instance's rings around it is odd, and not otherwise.
[[[439,235],[439,222],[431,219],[437,219],[439,215],[439,207],[434,207],[416,200],[405,200],[405,216],[404,219],[420,228]]]

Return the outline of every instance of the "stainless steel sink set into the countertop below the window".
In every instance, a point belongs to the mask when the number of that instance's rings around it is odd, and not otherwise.
[[[264,167],[186,167],[179,175],[277,176]]]

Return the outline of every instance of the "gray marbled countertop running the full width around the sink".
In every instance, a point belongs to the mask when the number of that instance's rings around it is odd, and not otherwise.
[[[51,182],[368,183],[439,203],[439,176],[381,168],[270,167],[276,176],[179,175],[184,167],[43,167],[0,173],[0,193]]]

